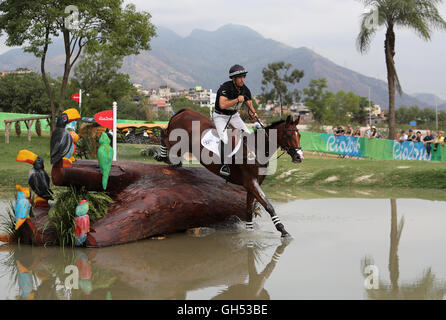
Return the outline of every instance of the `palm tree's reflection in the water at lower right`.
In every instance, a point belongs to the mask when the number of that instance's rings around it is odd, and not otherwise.
[[[443,299],[446,294],[446,282],[436,279],[432,268],[423,270],[421,277],[409,283],[399,283],[400,269],[398,246],[404,228],[404,216],[398,223],[397,204],[395,199],[390,199],[390,250],[389,250],[389,279],[390,283],[379,280],[378,289],[366,289],[370,299],[417,299],[438,300]],[[361,270],[365,266],[373,265],[372,257],[364,257],[361,261]]]

